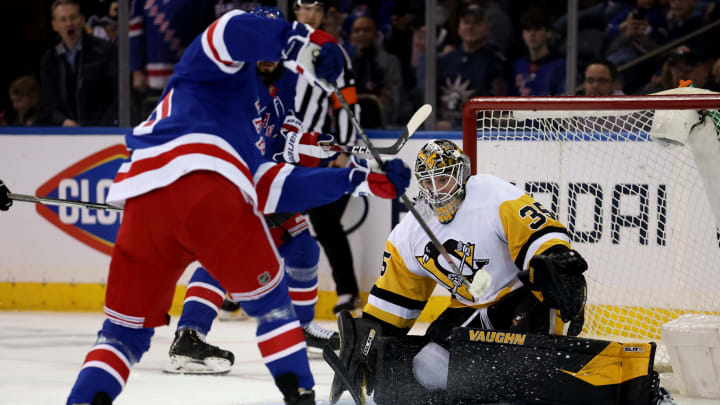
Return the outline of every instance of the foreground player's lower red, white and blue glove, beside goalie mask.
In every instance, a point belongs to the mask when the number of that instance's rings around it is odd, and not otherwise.
[[[353,156],[348,165],[353,195],[374,195],[380,198],[395,198],[405,194],[410,185],[410,168],[402,159],[385,162],[385,173],[382,173],[375,160],[361,159]]]

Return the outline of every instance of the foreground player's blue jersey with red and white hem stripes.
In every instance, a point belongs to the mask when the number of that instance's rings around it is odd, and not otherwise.
[[[255,65],[280,60],[294,34],[287,21],[239,10],[211,24],[183,54],[152,114],[126,135],[132,154],[107,201],[122,206],[195,170],[220,173],[266,214],[307,210],[351,191],[350,169],[276,164],[261,154]]]

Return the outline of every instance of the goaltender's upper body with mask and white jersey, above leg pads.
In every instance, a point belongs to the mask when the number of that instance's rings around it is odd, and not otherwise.
[[[461,325],[567,334],[572,321],[573,334],[579,333],[586,264],[550,212],[511,183],[487,174],[470,176],[467,156],[450,141],[431,141],[422,148],[415,177],[421,190],[419,211],[427,208],[427,223],[456,268],[473,286],[489,287],[473,296],[418,221],[407,215],[386,242],[382,271],[363,318],[379,321],[386,333],[405,334],[437,284],[452,295],[448,309],[428,330],[438,343]],[[536,255],[569,258],[582,268],[575,284],[564,291],[542,291],[539,269],[531,266]]]

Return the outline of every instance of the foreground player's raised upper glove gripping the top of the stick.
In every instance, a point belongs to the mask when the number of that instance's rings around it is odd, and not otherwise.
[[[332,92],[335,80],[344,66],[342,51],[335,38],[325,31],[315,30],[297,21],[294,35],[282,52],[283,65],[301,74],[305,80],[325,92]]]

